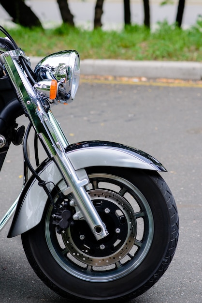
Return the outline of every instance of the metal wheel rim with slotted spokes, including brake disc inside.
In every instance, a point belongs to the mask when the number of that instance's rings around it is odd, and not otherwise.
[[[153,240],[154,221],[148,201],[132,183],[105,173],[88,177],[86,190],[110,235],[96,241],[84,220],[58,235],[51,223],[50,207],[46,242],[66,272],[86,281],[108,282],[134,271],[143,262]]]

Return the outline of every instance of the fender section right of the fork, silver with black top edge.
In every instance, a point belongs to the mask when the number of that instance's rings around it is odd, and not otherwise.
[[[166,171],[162,164],[149,154],[119,143],[87,141],[67,148],[75,170],[92,166],[130,167]]]

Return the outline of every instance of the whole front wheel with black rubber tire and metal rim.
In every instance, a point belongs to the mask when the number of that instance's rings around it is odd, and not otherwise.
[[[61,296],[123,302],[151,288],[171,263],[177,208],[157,172],[93,167],[87,174],[87,191],[110,235],[96,241],[79,220],[58,236],[47,202],[41,223],[22,235],[24,250],[35,273]]]

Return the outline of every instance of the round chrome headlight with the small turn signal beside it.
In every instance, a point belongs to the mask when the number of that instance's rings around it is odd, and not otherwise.
[[[50,94],[52,80],[57,81],[56,99],[61,103],[71,103],[79,86],[80,58],[75,50],[64,50],[42,59],[34,70],[37,82],[34,88],[43,97]],[[55,99],[55,98],[54,98]]]

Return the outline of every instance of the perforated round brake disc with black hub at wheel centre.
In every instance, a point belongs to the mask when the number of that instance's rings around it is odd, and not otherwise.
[[[82,263],[110,265],[124,258],[134,244],[137,223],[130,204],[108,190],[90,190],[88,194],[106,225],[109,235],[97,241],[85,220],[78,220],[62,233],[70,254]]]

